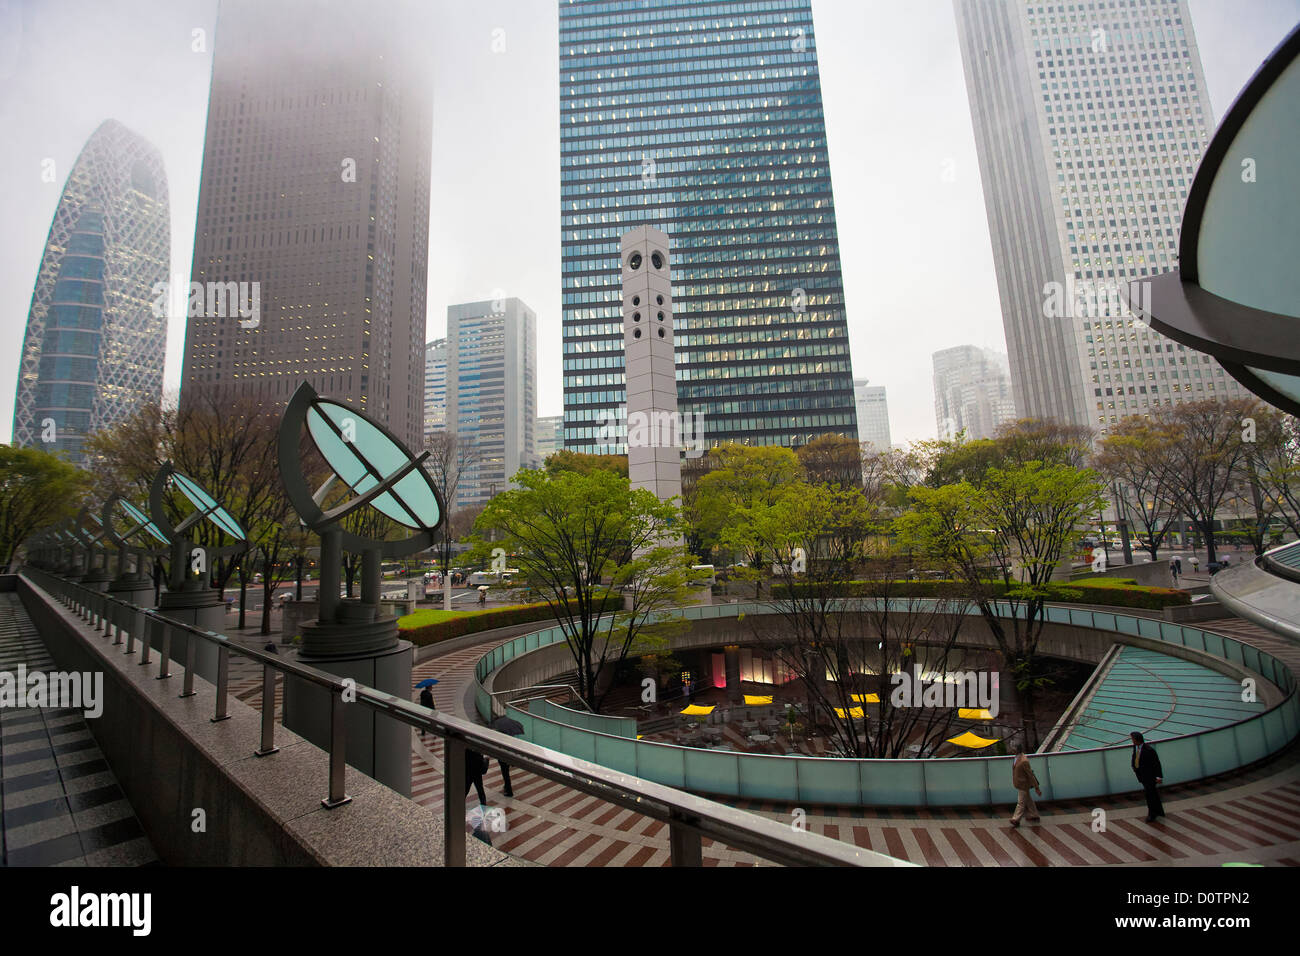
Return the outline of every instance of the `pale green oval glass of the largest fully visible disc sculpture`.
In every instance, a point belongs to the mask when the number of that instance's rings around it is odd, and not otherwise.
[[[307,432],[326,464],[356,494],[365,494],[411,464],[411,457],[378,425],[354,408],[318,398],[307,411]],[[416,464],[369,502],[398,524],[416,531],[438,525],[433,481]]]

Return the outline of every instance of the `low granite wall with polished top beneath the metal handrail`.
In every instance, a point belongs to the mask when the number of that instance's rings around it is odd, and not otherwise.
[[[216,693],[205,680],[196,679],[195,696],[182,700],[181,671],[157,680],[156,654],[140,666],[125,644],[114,645],[27,579],[20,592],[60,669],[104,674],[104,711],[87,724],[165,864],[441,865],[441,813],[352,767],[352,801],[324,809],[328,753],[277,727],[278,753],[255,757],[259,711],[231,697],[230,719],[213,723]],[[203,832],[194,830],[196,810]],[[474,866],[517,862],[474,839],[465,855]]]

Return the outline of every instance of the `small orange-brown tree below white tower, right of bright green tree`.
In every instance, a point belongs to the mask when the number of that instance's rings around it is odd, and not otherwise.
[[[1176,441],[1178,432],[1169,423],[1130,415],[1097,444],[1093,458],[1096,470],[1117,486],[1121,516],[1139,529],[1152,561],[1178,519],[1167,467]]]

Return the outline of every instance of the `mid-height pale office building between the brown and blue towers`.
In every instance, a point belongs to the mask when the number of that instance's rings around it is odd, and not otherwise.
[[[474,449],[454,510],[481,507],[537,467],[537,313],[519,299],[447,308],[447,428]]]

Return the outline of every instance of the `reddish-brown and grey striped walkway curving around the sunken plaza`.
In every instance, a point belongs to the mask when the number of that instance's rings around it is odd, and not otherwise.
[[[1244,620],[1202,624],[1247,640],[1283,658],[1300,672],[1300,648]],[[477,646],[416,665],[415,680],[438,678],[439,708],[467,715],[474,662],[502,643]],[[472,700],[469,701],[472,704]],[[441,743],[413,737],[413,793],[441,806]],[[526,860],[573,866],[663,866],[668,839],[663,825],[630,810],[529,774],[511,775],[515,797],[502,795],[494,765],[488,799],[506,810],[508,830],[494,845]],[[1145,822],[1140,793],[1108,797],[1102,805],[1061,801],[1044,805],[1043,822],[1015,830],[1005,814],[971,809],[806,808],[806,825],[827,836],[931,866],[1196,865],[1262,862],[1300,866],[1300,745],[1245,771],[1164,791],[1167,817]],[[728,801],[790,822],[797,808]],[[1100,816],[1104,813],[1104,817]],[[1104,830],[1095,830],[1104,822]],[[753,857],[705,842],[705,864],[753,865]]]

